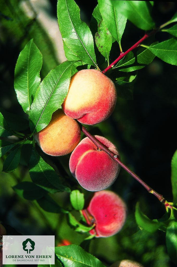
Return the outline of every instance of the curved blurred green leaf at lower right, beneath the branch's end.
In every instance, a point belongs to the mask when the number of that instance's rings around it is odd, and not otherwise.
[[[136,203],[135,219],[136,223],[149,233],[154,233],[160,227],[160,222],[151,221],[146,215],[142,214],[139,203]]]

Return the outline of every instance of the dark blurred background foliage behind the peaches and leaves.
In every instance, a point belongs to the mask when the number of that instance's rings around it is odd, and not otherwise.
[[[97,1],[76,1],[81,9],[81,19],[89,24]],[[166,22],[176,10],[175,2],[154,2],[153,17],[157,25]],[[1,0],[0,2],[0,107],[1,112],[22,115],[22,108],[15,95],[14,69],[19,52],[27,41],[34,38],[43,55],[41,78],[51,68],[66,60],[57,24],[57,0]],[[163,33],[168,35],[168,33]],[[127,22],[122,37],[122,48],[127,50],[143,31]],[[156,36],[160,41],[162,33]],[[117,50],[119,53],[119,50]],[[110,62],[118,54],[111,53]],[[155,58],[147,67],[138,71],[133,100],[118,96],[116,108],[109,119],[89,126],[92,134],[103,135],[117,147],[122,161],[127,164],[154,190],[172,201],[171,158],[177,147],[177,75],[176,67]],[[30,147],[29,147],[30,149]],[[21,166],[13,173],[0,174],[0,221],[7,234],[55,235],[56,246],[62,239],[81,244],[86,234],[76,233],[68,224],[65,214],[41,209],[37,201],[20,198],[12,189],[20,181],[30,181],[27,151],[23,151]],[[71,177],[69,156],[52,158],[51,161],[65,175]],[[2,162],[0,170],[2,170]],[[73,179],[71,178],[73,181]],[[75,188],[77,184],[73,182]],[[145,267],[174,267],[167,255],[165,233],[153,234],[140,230],[134,218],[135,204],[149,218],[160,218],[164,206],[138,184],[123,169],[111,190],[127,203],[127,221],[122,231],[109,238],[91,240],[89,252],[106,266],[114,261],[132,259]],[[85,193],[85,198],[90,195]],[[60,206],[71,208],[68,193],[56,193],[52,197]]]

